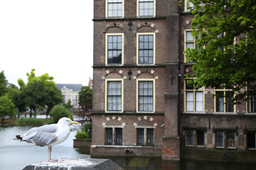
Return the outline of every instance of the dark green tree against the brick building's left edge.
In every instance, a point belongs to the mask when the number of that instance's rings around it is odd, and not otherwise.
[[[79,105],[82,107],[84,112],[92,108],[92,89],[89,86],[82,86],[79,94]]]

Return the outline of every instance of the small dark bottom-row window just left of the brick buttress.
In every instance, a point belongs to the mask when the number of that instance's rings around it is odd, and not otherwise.
[[[137,128],[137,145],[154,145],[154,128]]]

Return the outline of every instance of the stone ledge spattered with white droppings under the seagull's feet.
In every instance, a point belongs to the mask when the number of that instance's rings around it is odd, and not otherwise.
[[[58,162],[38,162],[23,170],[121,170],[110,159],[58,159]]]

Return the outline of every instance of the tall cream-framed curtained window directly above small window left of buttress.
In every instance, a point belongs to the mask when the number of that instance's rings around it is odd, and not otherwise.
[[[154,80],[137,79],[137,111],[154,112]]]

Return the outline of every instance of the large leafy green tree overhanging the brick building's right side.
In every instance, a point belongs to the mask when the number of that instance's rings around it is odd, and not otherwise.
[[[255,95],[256,1],[188,1],[194,4],[191,28],[197,49],[187,49],[185,55],[187,62],[196,63],[196,87],[233,89],[234,102]],[[243,91],[246,86],[252,91]]]

